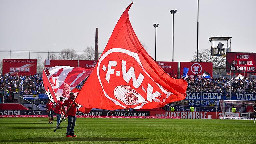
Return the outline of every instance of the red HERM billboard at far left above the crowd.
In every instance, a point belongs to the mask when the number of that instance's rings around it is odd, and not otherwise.
[[[35,75],[36,59],[3,59],[3,74]]]

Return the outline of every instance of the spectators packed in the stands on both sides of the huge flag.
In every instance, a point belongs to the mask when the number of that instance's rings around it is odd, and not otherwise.
[[[76,88],[81,89],[86,80]],[[212,79],[186,78],[187,92],[237,92],[256,93],[255,78],[238,79],[234,77],[219,77]],[[30,95],[45,93],[42,75],[1,75],[0,92],[4,95]]]

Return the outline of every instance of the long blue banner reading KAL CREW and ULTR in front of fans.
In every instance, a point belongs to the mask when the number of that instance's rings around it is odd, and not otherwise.
[[[185,100],[249,100],[256,101],[256,93],[215,93],[215,92],[187,92]]]

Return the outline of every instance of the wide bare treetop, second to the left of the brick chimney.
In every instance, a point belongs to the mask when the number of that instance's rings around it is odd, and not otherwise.
[[[63,48],[59,54],[60,60],[75,60],[77,59],[77,54],[73,48]]]

